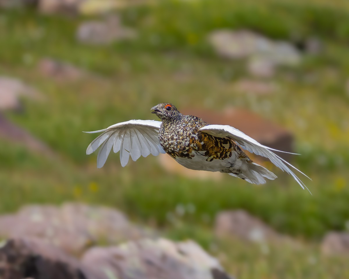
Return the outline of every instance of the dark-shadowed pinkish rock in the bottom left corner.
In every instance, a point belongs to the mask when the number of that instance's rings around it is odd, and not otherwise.
[[[8,240],[0,248],[0,278],[87,279],[76,259],[39,239]]]

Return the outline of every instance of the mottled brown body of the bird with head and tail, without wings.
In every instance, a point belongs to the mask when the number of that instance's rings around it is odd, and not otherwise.
[[[255,164],[232,139],[201,132],[200,128],[208,125],[201,118],[183,115],[171,104],[160,104],[160,109],[162,105],[171,106],[176,113],[170,118],[160,116],[159,142],[180,165],[199,171],[229,173],[255,184],[265,183],[263,177],[276,178]],[[257,166],[264,171],[262,174],[254,171]]]

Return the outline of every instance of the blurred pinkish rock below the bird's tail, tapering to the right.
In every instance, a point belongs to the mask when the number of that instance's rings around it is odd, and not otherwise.
[[[244,210],[223,211],[217,214],[215,234],[219,237],[234,237],[252,242],[290,241],[260,219]]]

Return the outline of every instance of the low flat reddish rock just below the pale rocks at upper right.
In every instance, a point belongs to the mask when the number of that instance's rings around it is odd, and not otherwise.
[[[252,95],[269,95],[277,91],[278,86],[274,82],[242,79],[233,84],[234,91],[252,94]]]

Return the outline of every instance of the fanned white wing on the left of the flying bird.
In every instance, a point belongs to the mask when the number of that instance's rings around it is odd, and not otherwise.
[[[165,153],[159,142],[159,129],[161,121],[155,120],[130,120],[114,124],[106,129],[84,132],[100,133],[87,147],[86,154],[95,152],[99,146],[97,167],[103,167],[111,149],[120,151],[121,166],[126,166],[129,156],[132,160],[147,157],[150,153],[158,156]]]

